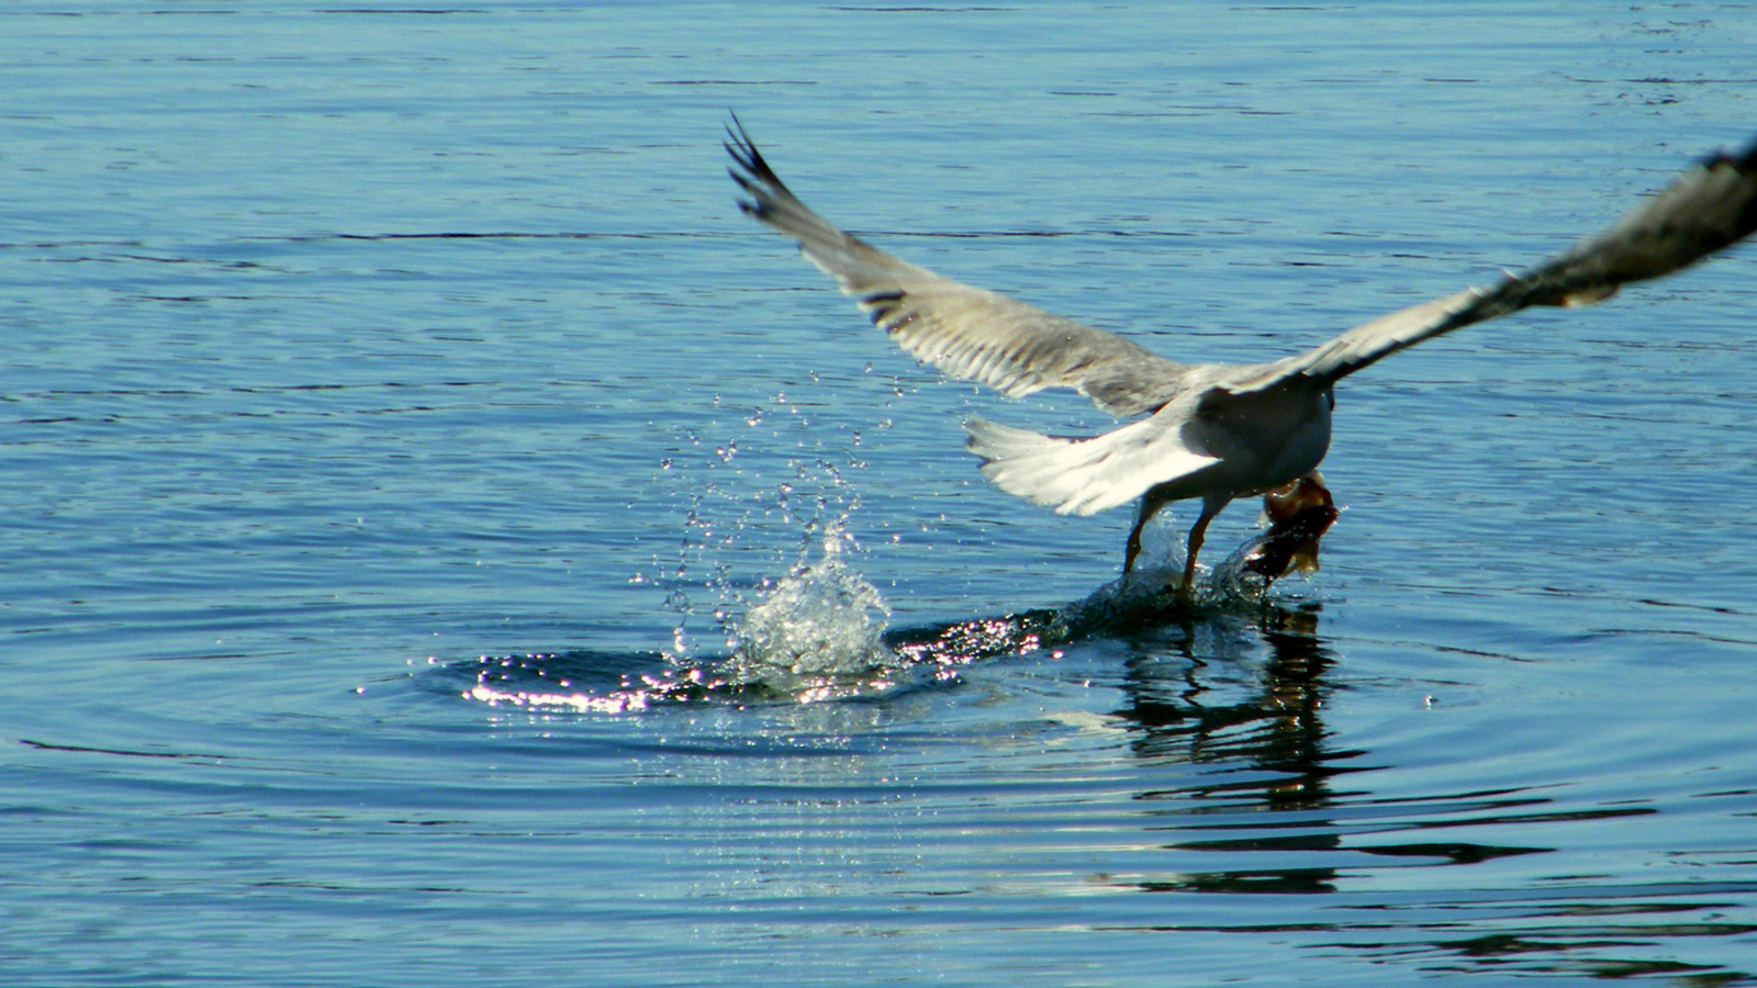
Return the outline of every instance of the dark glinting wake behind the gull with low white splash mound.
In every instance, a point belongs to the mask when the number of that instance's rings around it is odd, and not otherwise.
[[[1244,570],[1240,547],[1204,580],[1197,605],[1179,601],[1168,584],[1181,573],[1170,559],[1114,580],[1086,598],[947,626],[891,629],[878,587],[850,563],[856,541],[847,515],[812,526],[815,540],[759,598],[724,610],[727,654],[613,654],[571,650],[483,656],[450,666],[467,675],[469,700],[531,712],[627,714],[680,703],[822,703],[896,696],[942,687],[977,661],[1026,656],[1091,638],[1116,638],[1167,626],[1230,626],[1263,610],[1267,582]],[[631,672],[633,670],[633,672]]]

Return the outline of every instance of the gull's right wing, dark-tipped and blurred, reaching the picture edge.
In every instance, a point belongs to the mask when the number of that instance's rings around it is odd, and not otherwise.
[[[1328,385],[1423,339],[1527,306],[1601,302],[1622,285],[1671,274],[1752,230],[1757,230],[1757,141],[1738,155],[1706,158],[1609,230],[1530,271],[1376,318],[1316,350],[1260,366],[1226,390],[1263,390],[1293,376]]]

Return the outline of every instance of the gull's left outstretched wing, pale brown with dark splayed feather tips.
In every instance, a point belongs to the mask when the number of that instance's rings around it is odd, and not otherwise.
[[[917,360],[1010,397],[1074,389],[1119,417],[1153,411],[1175,394],[1182,366],[1114,332],[884,253],[799,202],[736,116],[726,134],[726,151],[736,162],[727,172],[750,195],[740,209],[796,239],[805,257]]]

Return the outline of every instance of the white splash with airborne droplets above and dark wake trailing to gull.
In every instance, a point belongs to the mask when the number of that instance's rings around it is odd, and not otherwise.
[[[662,591],[662,608],[676,615],[669,649],[481,656],[450,666],[467,677],[464,696],[580,714],[875,698],[958,682],[975,661],[1040,649],[1056,656],[1056,647],[1089,636],[1225,622],[1270,603],[1270,582],[1247,566],[1262,538],[1204,568],[1195,599],[1179,599],[1172,587],[1182,538],[1156,522],[1149,540],[1167,545],[1146,557],[1158,566],[1081,601],[893,631],[884,594],[859,571],[863,550],[850,531],[859,506],[850,478],[866,466],[856,454],[859,432],[812,427],[784,394],[740,411],[729,431],[722,425],[713,424],[713,440],[678,427],[655,475],[687,496],[676,557],[655,557],[652,573],[631,577]],[[750,570],[785,575],[743,575]],[[703,628],[710,615],[712,633]]]

